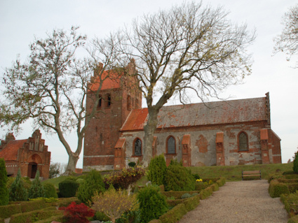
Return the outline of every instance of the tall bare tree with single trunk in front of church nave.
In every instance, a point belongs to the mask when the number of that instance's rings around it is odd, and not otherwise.
[[[223,8],[203,8],[201,3],[183,3],[170,10],[144,15],[126,29],[121,49],[137,64],[135,75],[147,101],[144,126],[144,166],[151,159],[151,145],[158,111],[173,96],[192,91],[200,99],[218,96],[229,85],[251,73],[246,47],[255,39],[245,24],[227,19]]]

